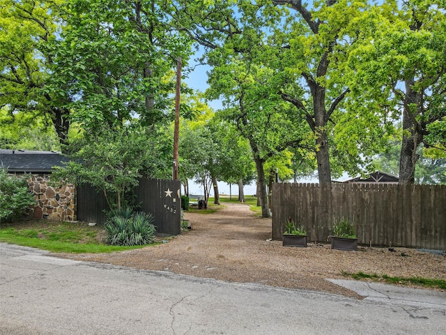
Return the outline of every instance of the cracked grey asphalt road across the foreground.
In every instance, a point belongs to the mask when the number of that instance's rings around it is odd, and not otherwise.
[[[357,286],[376,294],[226,283],[0,244],[0,334],[445,334],[446,292],[393,299],[387,286]]]

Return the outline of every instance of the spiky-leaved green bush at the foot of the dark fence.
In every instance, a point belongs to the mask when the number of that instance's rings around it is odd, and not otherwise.
[[[142,246],[155,241],[152,214],[133,211],[130,207],[114,209],[107,214],[107,243],[112,246]]]

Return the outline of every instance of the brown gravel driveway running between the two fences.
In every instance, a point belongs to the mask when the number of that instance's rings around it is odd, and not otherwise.
[[[246,204],[224,204],[215,214],[185,213],[192,230],[167,243],[108,254],[59,254],[77,260],[104,262],[137,269],[172,271],[190,276],[283,288],[318,290],[358,297],[325,278],[342,272],[446,279],[446,256],[409,248],[360,247],[357,252],[307,248],[268,241],[271,219],[256,218]]]

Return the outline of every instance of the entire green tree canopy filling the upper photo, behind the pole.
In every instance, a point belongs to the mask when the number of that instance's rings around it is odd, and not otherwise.
[[[210,66],[205,98],[223,101],[210,110],[182,87],[184,183],[243,185],[255,170],[268,216],[277,169],[295,180],[316,169],[330,183],[375,170],[396,140],[400,182],[414,183],[415,166],[446,156],[445,10],[441,0],[0,0],[0,145],[119,152],[91,170],[107,181],[105,165],[127,157],[117,148],[144,137],[128,175],[169,176],[181,57],[186,76],[194,62]]]

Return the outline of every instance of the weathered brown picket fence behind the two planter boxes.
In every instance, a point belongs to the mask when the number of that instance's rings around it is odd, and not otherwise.
[[[272,239],[287,218],[309,241],[328,241],[334,219],[350,218],[360,244],[446,250],[446,186],[273,184]]]

